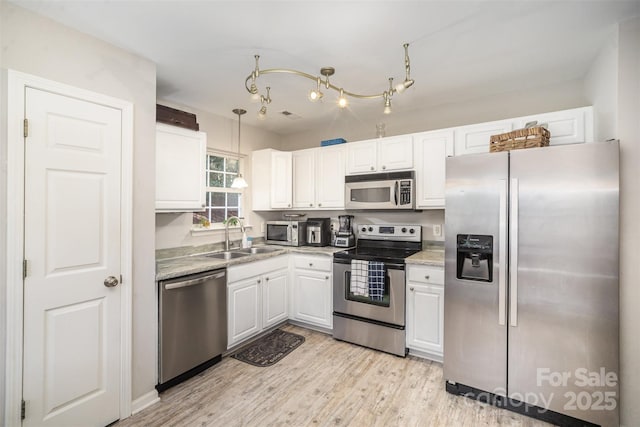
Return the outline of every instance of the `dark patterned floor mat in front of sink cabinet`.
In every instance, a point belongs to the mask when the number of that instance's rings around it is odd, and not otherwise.
[[[254,366],[271,366],[304,342],[304,337],[291,332],[275,331],[240,349],[231,357]]]

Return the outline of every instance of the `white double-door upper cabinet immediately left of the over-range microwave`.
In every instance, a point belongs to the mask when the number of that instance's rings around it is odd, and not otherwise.
[[[345,147],[293,152],[293,207],[344,208]]]

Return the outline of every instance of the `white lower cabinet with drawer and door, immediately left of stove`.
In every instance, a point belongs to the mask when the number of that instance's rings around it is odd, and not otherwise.
[[[291,307],[289,317],[322,328],[333,328],[332,258],[291,255]]]

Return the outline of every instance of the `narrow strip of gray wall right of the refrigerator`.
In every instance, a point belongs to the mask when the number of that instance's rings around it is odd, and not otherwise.
[[[618,34],[620,139],[620,386],[621,422],[640,426],[640,18]]]

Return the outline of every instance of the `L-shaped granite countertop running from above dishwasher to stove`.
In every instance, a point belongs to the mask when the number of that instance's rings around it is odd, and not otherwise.
[[[256,247],[267,247],[273,249],[272,252],[262,254],[251,254],[240,258],[230,260],[211,258],[206,256],[209,253],[191,254],[177,256],[174,258],[164,258],[156,260],[156,280],[167,280],[175,277],[186,276],[189,274],[201,273],[203,271],[216,270],[218,268],[226,268],[231,265],[245,264],[247,262],[260,261],[267,258],[276,257],[288,253],[300,253],[308,255],[323,255],[332,257],[335,252],[342,251],[344,248],[335,248],[333,246],[277,246],[277,245],[261,245]],[[218,251],[220,252],[220,251]]]

